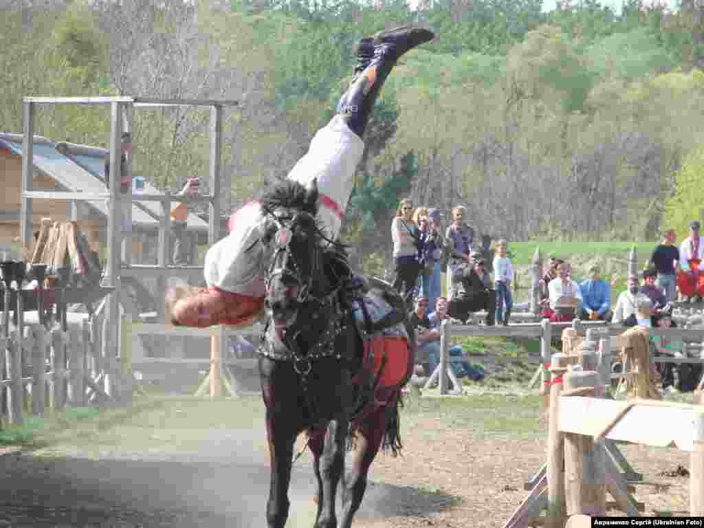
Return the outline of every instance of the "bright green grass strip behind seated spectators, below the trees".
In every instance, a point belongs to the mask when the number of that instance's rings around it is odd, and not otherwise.
[[[636,246],[639,263],[644,263],[646,258],[653,252],[656,242],[511,242],[509,249],[513,253],[513,264],[529,265],[533,262],[533,256],[537,247],[543,255],[543,262],[546,262],[548,255],[555,253],[557,256],[569,258],[570,255],[591,254],[591,255],[612,255],[620,258],[627,258],[631,247]]]

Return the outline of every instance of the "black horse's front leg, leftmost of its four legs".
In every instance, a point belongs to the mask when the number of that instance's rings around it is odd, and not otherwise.
[[[266,427],[271,467],[266,520],[269,528],[283,528],[289,517],[289,483],[296,429],[290,417],[270,410],[266,413]]]

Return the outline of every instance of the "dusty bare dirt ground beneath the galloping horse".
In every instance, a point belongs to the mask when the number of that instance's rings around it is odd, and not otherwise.
[[[470,398],[471,396],[465,398]],[[109,432],[108,432],[109,433]],[[265,526],[268,455],[264,428],[212,429],[193,451],[44,449],[0,454],[0,527]],[[545,460],[545,436],[513,439],[432,413],[403,429],[403,456],[379,455],[359,528],[502,527]],[[302,446],[302,441],[300,442]],[[687,453],[621,446],[636,471],[644,515],[685,515]],[[667,476],[672,473],[673,476]],[[677,475],[677,476],[676,476]],[[313,472],[294,465],[287,526],[313,525]],[[616,511],[610,515],[619,515]]]

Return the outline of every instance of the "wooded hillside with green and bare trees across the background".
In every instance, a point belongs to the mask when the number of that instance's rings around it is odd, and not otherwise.
[[[15,0],[0,17],[0,123],[20,132],[29,94],[237,99],[223,142],[237,204],[306,151],[357,39],[421,23],[437,38],[398,65],[367,133],[345,232],[365,242],[358,264],[387,258],[403,196],[464,203],[479,232],[511,241],[684,233],[704,197],[704,8],[558,4]],[[171,190],[206,175],[208,118],[139,109],[134,172]],[[105,145],[108,128],[107,108],[38,113],[56,140]]]

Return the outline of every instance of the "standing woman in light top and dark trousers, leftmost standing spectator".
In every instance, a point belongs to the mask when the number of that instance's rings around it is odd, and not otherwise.
[[[403,296],[406,306],[413,306],[415,282],[420,272],[418,263],[420,231],[412,218],[413,204],[408,199],[401,200],[396,210],[396,217],[391,222],[391,239],[394,241],[396,264],[394,288]]]

